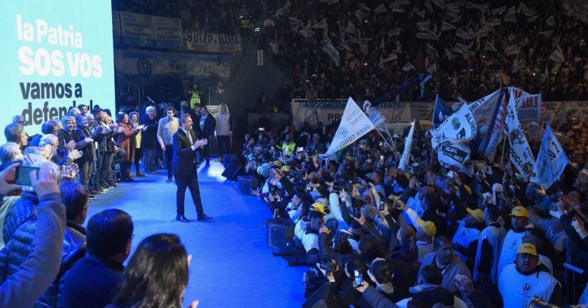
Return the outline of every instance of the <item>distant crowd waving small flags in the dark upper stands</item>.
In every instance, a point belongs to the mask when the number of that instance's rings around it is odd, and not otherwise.
[[[424,97],[417,85],[398,99],[469,102],[500,86],[588,99],[586,23],[559,1],[472,2],[269,1],[263,47],[288,71],[291,97],[280,89],[266,110],[287,111],[291,98],[374,99],[428,72]]]

